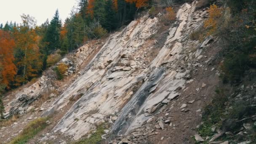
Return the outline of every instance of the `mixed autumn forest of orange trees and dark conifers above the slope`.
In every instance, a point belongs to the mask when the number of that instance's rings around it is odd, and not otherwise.
[[[21,15],[21,24],[0,24],[2,91],[24,85],[55,64],[56,57],[128,24],[136,11],[149,3],[149,0],[80,0],[78,11],[71,11],[64,24],[58,10],[51,21],[47,19],[40,26],[26,14]]]

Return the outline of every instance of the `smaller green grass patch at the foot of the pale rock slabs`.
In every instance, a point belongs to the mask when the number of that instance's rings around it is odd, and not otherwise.
[[[104,134],[104,124],[97,127],[96,132],[92,133],[89,138],[82,139],[74,144],[99,144],[101,142],[101,135]]]

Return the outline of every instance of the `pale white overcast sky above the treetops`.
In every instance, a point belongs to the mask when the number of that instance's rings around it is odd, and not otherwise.
[[[0,24],[6,21],[21,23],[24,13],[34,16],[37,25],[41,25],[47,18],[51,21],[56,9],[64,22],[73,6],[77,6],[77,0],[0,0]]]

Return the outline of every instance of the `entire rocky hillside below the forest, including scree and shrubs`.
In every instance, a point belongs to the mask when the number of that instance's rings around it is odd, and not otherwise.
[[[248,17],[250,22],[242,24],[248,37],[228,21],[249,16],[250,9],[238,16],[225,5],[203,2],[175,5],[172,20],[165,8],[143,11],[127,26],[89,40],[37,80],[8,92],[0,141],[255,143],[255,23]],[[231,42],[225,37],[234,31],[248,52],[233,45],[227,49]],[[236,52],[240,57],[230,57]],[[241,55],[248,57],[245,63]],[[54,67],[61,64],[67,69],[57,80]]]

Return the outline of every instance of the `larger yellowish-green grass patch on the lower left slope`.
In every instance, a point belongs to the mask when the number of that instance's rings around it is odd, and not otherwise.
[[[46,126],[48,117],[38,118],[30,122],[23,131],[14,138],[9,144],[26,144],[29,139],[32,139],[37,133],[42,131]]]

